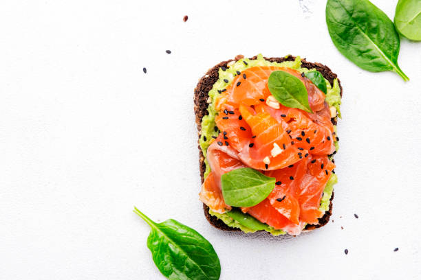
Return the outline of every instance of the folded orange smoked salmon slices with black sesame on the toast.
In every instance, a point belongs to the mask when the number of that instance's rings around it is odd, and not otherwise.
[[[272,71],[286,71],[299,78],[307,89],[307,113],[279,104],[266,104],[270,95],[268,78]],[[251,167],[277,179],[272,193],[253,207],[243,208],[274,229],[298,235],[306,223],[317,224],[323,189],[334,163],[334,126],[325,95],[299,71],[284,67],[251,67],[233,80],[216,100],[215,122],[220,135],[207,150],[212,172],[200,200],[210,209],[224,213],[221,176],[241,167]]]

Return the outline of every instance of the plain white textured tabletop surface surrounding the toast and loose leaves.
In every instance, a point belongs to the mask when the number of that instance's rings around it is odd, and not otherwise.
[[[195,84],[259,53],[343,85],[334,214],[299,237],[214,229],[197,196]],[[0,279],[164,279],[133,205],[202,233],[224,280],[420,279],[421,43],[399,64],[341,56],[325,1],[1,1]]]

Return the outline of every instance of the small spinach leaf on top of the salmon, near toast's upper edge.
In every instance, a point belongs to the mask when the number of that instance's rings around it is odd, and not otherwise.
[[[299,78],[284,71],[273,71],[268,79],[270,93],[283,106],[299,108],[312,113],[308,104],[308,94],[305,85]]]

